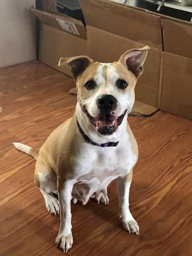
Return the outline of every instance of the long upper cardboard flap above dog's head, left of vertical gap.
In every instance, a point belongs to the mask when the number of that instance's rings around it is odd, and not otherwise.
[[[87,25],[162,50],[157,15],[103,0],[81,0],[81,6]]]

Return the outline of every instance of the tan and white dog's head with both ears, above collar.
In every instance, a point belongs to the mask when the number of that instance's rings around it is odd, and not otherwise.
[[[79,105],[99,133],[114,133],[131,111],[148,50],[145,46],[127,51],[113,63],[94,62],[86,56],[60,58],[59,66],[70,66]]]

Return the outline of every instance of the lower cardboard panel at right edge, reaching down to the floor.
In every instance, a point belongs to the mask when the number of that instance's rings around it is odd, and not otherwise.
[[[159,109],[192,119],[192,59],[164,52]]]

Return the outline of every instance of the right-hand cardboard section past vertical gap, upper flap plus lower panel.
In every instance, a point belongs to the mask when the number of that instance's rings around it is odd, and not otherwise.
[[[163,63],[159,109],[192,119],[192,26],[162,21]]]

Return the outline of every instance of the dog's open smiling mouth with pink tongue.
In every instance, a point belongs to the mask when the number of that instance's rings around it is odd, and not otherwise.
[[[101,133],[102,135],[110,135],[117,130],[117,127],[119,125],[121,125],[126,111],[127,109],[121,116],[105,114],[98,117],[92,117],[87,110],[85,110],[85,113],[87,117],[89,117],[90,122],[95,126],[99,133]]]

